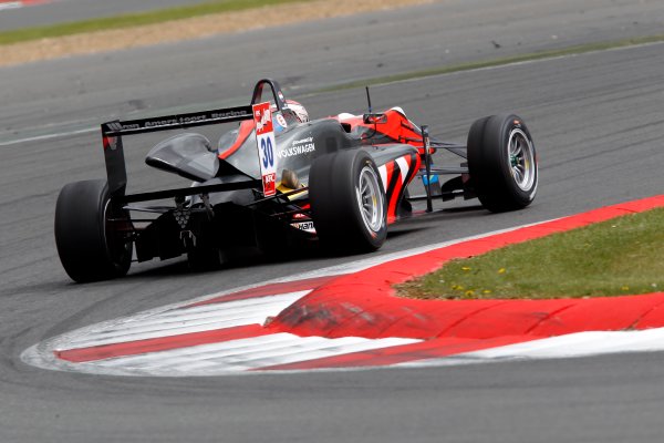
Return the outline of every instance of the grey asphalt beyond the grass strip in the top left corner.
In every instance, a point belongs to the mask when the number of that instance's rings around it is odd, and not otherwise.
[[[203,3],[203,0],[52,0],[43,4],[0,10],[0,31],[196,3]]]

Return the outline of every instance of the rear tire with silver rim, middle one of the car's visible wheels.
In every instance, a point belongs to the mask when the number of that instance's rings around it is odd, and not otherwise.
[[[309,175],[309,198],[317,235],[325,247],[364,253],[385,243],[385,190],[366,152],[341,151],[317,158]]]

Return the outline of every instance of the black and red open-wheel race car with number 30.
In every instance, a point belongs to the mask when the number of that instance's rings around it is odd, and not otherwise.
[[[477,120],[464,146],[432,140],[400,107],[374,113],[369,90],[367,99],[366,114],[309,120],[263,79],[246,106],[102,124],[106,179],[68,184],[58,197],[54,234],[65,271],[77,282],[96,281],[124,276],[132,261],[186,254],[199,267],[232,250],[311,243],[371,251],[388,226],[430,213],[434,200],[477,197],[491,212],[533,200],[536,151],[517,115]],[[127,194],[123,138],[234,122],[239,126],[216,145],[180,131],[149,151],[147,165],[190,186]],[[438,150],[459,164],[435,167]],[[422,195],[408,192],[416,177]],[[170,203],[155,204],[164,200]],[[426,210],[414,212],[414,202],[426,202]]]

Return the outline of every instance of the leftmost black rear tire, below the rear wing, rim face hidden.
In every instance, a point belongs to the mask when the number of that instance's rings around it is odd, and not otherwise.
[[[66,274],[76,282],[126,275],[132,265],[131,226],[127,212],[111,205],[105,181],[64,186],[55,206],[55,244]]]

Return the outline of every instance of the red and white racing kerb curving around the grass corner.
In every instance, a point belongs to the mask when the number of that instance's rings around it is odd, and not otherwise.
[[[664,292],[432,301],[392,289],[454,258],[662,206],[664,195],[206,296],[55,337],[22,359],[75,372],[190,377],[664,350]]]

